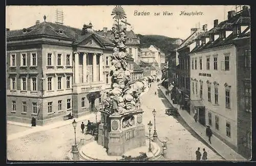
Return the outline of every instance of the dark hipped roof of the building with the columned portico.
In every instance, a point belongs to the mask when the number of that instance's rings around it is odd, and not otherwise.
[[[24,33],[23,30],[7,31],[7,38],[28,37],[34,35],[48,35],[53,37],[61,37],[74,40],[76,43],[79,43],[85,38],[94,35],[98,40],[100,40],[100,42],[104,44],[112,44],[111,40],[109,40],[108,38],[104,38],[103,36],[97,34],[95,31],[90,31],[84,35],[81,35],[81,29],[60,25],[53,22],[41,22],[38,25],[26,28],[26,30],[26,33]],[[58,31],[62,31],[62,33],[59,33]]]

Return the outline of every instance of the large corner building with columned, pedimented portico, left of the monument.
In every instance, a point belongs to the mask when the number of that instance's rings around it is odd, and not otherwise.
[[[44,21],[7,31],[7,120],[36,116],[45,125],[93,111],[110,82],[103,68],[112,53],[112,42],[91,23],[76,29]]]

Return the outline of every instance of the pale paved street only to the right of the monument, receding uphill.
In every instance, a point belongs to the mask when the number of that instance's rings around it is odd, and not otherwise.
[[[155,95],[155,91],[157,92],[157,95]],[[173,116],[165,114],[165,108],[168,108],[170,104],[164,98],[160,89],[158,89],[157,83],[152,83],[152,87],[148,90],[147,94],[142,96],[141,101],[142,108],[145,111],[143,117],[145,126],[150,120],[154,124],[152,111],[154,108],[157,111],[157,134],[160,139],[161,137],[166,137],[168,139],[168,149],[165,156],[166,160],[196,160],[195,151],[198,147],[201,148],[201,153],[203,148],[205,148],[208,153],[208,160],[223,160],[221,156],[204,144],[204,140],[190,129],[181,117],[176,119]],[[151,133],[153,134],[153,132],[154,128]],[[146,134],[148,134],[147,129]]]

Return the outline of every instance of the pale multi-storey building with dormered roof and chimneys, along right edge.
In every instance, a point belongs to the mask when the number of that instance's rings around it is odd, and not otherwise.
[[[190,44],[191,115],[251,157],[250,10],[244,6]]]

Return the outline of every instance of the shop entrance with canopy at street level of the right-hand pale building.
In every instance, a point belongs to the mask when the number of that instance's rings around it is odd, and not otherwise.
[[[205,126],[205,106],[201,100],[190,100],[190,114],[197,115],[198,122]]]

